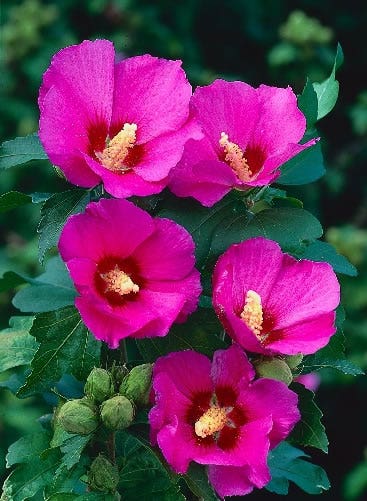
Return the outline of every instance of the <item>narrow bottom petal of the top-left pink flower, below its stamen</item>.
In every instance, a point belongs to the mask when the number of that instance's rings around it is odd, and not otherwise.
[[[168,179],[157,182],[145,181],[134,170],[123,174],[112,172],[88,155],[84,155],[84,160],[91,170],[100,177],[107,193],[116,198],[154,195],[161,192],[168,183]]]

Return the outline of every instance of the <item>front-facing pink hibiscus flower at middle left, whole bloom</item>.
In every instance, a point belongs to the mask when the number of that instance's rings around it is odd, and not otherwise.
[[[127,336],[164,336],[196,309],[201,287],[190,234],[131,202],[90,203],[68,219],[59,250],[84,323],[111,348]]]

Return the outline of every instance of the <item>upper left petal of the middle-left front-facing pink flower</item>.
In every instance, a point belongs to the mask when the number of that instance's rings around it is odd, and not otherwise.
[[[149,214],[126,200],[90,203],[84,214],[71,216],[64,226],[59,250],[64,261],[75,257],[99,261],[130,256],[154,230]]]

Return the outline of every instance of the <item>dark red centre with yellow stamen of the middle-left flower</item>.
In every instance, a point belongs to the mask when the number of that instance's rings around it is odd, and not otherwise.
[[[143,280],[132,260],[108,257],[98,263],[94,283],[99,294],[111,305],[121,306],[136,299]]]

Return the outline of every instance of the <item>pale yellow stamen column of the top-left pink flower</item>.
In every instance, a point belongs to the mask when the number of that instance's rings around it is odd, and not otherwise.
[[[129,149],[135,145],[136,124],[125,123],[123,128],[107,144],[102,152],[96,152],[96,157],[104,167],[112,171],[124,172],[129,170],[123,162]]]

